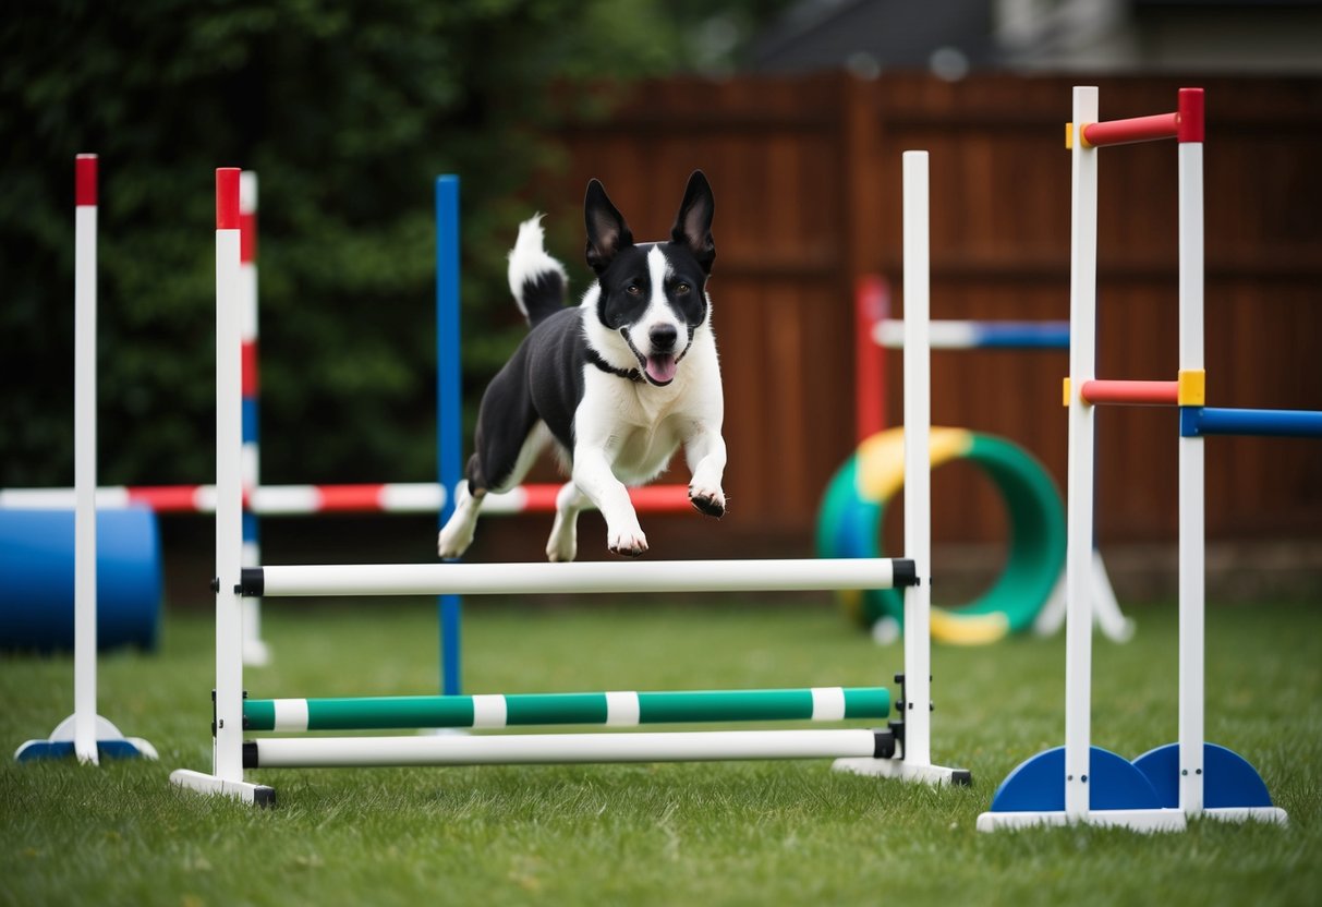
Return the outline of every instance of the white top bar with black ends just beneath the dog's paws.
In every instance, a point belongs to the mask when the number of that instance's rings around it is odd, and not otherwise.
[[[368,563],[246,567],[246,596],[740,592],[916,586],[891,558],[600,561],[579,563]]]

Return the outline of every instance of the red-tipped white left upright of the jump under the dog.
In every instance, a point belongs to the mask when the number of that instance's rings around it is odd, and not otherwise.
[[[243,780],[239,171],[215,171],[215,776]]]

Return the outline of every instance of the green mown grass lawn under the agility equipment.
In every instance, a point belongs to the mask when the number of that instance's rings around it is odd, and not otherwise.
[[[1175,608],[1099,640],[1093,738],[1134,756],[1173,742]],[[642,600],[471,604],[472,693],[890,684],[876,648],[829,607]],[[428,603],[268,603],[271,668],[254,697],[436,690]],[[1317,904],[1322,900],[1322,610],[1208,613],[1207,730],[1261,771],[1285,829],[1196,822],[1185,834],[1036,829],[974,818],[1022,759],[1064,739],[1064,644],[933,652],[933,762],[972,788],[833,773],[826,762],[268,769],[260,810],[175,789],[210,768],[208,615],[171,613],[161,651],[100,662],[100,711],[159,763],[0,760],[4,904]],[[71,660],[0,657],[12,752],[71,711]]]

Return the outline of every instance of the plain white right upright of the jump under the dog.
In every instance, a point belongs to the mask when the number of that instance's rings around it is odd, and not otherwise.
[[[932,762],[932,514],[928,464],[928,159],[904,152],[904,557],[917,586],[904,590],[904,762]]]

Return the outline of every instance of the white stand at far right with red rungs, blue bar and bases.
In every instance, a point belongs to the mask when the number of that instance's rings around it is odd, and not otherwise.
[[[1285,822],[1266,785],[1241,756],[1206,742],[1204,434],[1263,431],[1322,436],[1322,414],[1204,407],[1203,90],[1181,89],[1174,114],[1097,122],[1097,89],[1073,90],[1068,546],[1066,583],[1066,744],[1032,756],[1001,784],[978,829],[1087,822],[1182,830],[1187,818]],[[1179,148],[1179,373],[1175,381],[1096,378],[1097,148],[1175,139]],[[1178,406],[1179,436],[1179,742],[1133,763],[1091,744],[1091,599],[1093,415],[1105,403]],[[1211,430],[1207,427],[1211,426]]]

